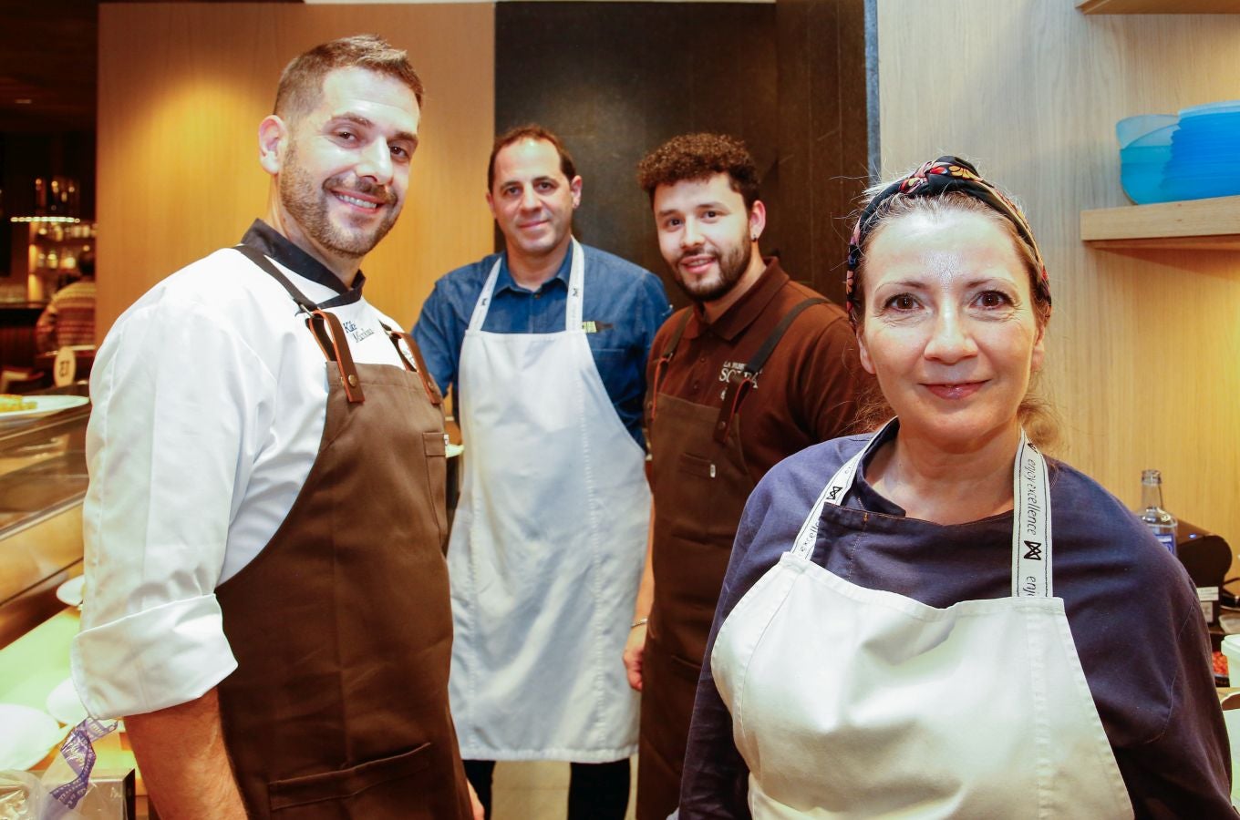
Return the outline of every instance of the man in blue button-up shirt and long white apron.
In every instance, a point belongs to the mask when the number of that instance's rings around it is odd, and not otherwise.
[[[496,761],[569,761],[568,816],[619,820],[637,697],[609,653],[645,552],[641,403],[667,295],[573,238],[582,177],[551,131],[496,140],[486,201],[503,251],[440,279],[413,331],[465,445],[453,717],[487,809]]]

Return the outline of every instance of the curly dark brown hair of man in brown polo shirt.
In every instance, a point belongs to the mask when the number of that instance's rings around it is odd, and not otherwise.
[[[637,164],[637,185],[650,201],[655,188],[684,180],[706,180],[727,173],[732,190],[746,208],[758,202],[758,168],[745,144],[724,134],[682,134],[673,136]]]

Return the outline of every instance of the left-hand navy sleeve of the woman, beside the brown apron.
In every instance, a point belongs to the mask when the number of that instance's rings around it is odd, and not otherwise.
[[[745,503],[737,528],[737,540],[719,592],[719,604],[711,626],[702,678],[693,702],[681,775],[681,820],[750,816],[749,768],[733,741],[732,715],[715,687],[711,655],[723,622],[750,587],[779,561],[787,543],[796,535],[795,529],[791,535],[784,531],[789,525],[787,521],[779,520],[784,517],[769,514],[773,508],[773,488],[779,486],[781,473],[782,469],[776,466],[759,482]]]

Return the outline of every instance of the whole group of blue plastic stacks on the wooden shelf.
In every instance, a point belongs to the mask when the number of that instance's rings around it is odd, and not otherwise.
[[[1240,100],[1115,125],[1120,181],[1137,204],[1240,194]]]

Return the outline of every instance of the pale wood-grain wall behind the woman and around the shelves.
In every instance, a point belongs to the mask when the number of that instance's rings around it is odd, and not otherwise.
[[[885,175],[972,157],[1014,191],[1050,271],[1044,385],[1069,462],[1240,549],[1240,256],[1094,250],[1126,204],[1115,121],[1240,98],[1240,15],[1085,16],[1074,0],[879,0]]]

